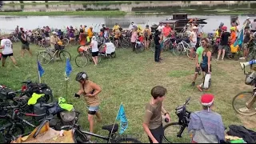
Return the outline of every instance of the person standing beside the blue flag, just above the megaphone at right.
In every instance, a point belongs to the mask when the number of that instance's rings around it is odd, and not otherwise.
[[[248,26],[245,27],[245,34],[244,35],[245,36],[244,36],[243,43],[242,43],[243,57],[239,58],[239,59],[246,59],[248,57],[248,54],[249,54],[248,45],[249,45],[250,41],[253,38],[250,34],[250,30],[249,30]]]

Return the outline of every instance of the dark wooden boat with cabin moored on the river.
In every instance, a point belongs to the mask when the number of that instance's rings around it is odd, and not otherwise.
[[[196,22],[198,23],[198,25],[203,27],[207,24],[207,22],[204,22],[205,20],[206,18],[187,18],[186,13],[178,13],[173,14],[173,18],[166,18],[165,20],[162,20],[160,22],[162,22],[163,24],[169,23],[173,30],[181,32],[186,26],[188,26],[192,22]],[[151,26],[151,30],[156,30],[158,25]]]

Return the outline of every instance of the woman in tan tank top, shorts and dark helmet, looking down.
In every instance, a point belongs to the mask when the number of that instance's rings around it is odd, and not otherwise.
[[[90,133],[94,132],[94,115],[97,117],[97,121],[102,121],[102,115],[98,112],[99,110],[99,98],[98,94],[102,91],[101,87],[96,83],[88,79],[88,75],[85,72],[79,72],[75,78],[80,84],[80,90],[74,94],[75,98],[80,98],[83,95],[86,99],[88,107],[88,121],[90,123]]]

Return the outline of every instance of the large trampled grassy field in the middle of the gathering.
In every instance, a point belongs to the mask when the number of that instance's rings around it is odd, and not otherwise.
[[[0,68],[0,82],[14,90],[21,88],[22,81],[31,79],[37,81],[36,55],[39,49],[31,45],[33,57],[30,58],[26,53],[25,58],[20,57],[21,44],[14,44],[14,57],[18,61],[18,67],[13,66],[10,59],[7,59],[6,66]],[[144,51],[141,54],[134,54],[131,49],[117,50],[117,57],[112,59],[102,59],[98,66],[90,65],[78,68],[74,58],[77,55],[76,46],[69,47],[72,55],[71,65],[73,71],[70,75],[68,86],[67,102],[74,104],[77,110],[82,112],[79,122],[84,130],[89,130],[89,123],[86,118],[86,102],[83,99],[74,98],[74,93],[78,91],[78,82],[74,80],[80,71],[86,71],[90,80],[102,87],[100,111],[102,122],[97,123],[95,133],[107,134],[101,130],[102,125],[111,124],[118,113],[118,106],[123,102],[128,118],[129,127],[126,134],[142,134],[140,140],[148,142],[146,134],[142,129],[142,118],[146,102],[150,99],[150,90],[157,85],[165,86],[168,90],[164,106],[170,112],[171,122],[177,122],[175,108],[185,102],[186,98],[191,97],[188,110],[201,110],[199,98],[202,92],[195,87],[190,87],[191,79],[194,74],[194,61],[186,56],[176,57],[169,52],[162,56],[161,63],[154,62],[154,53]],[[231,106],[232,98],[238,92],[252,90],[250,86],[244,84],[245,76],[239,66],[238,61],[212,62],[212,87],[208,93],[215,95],[215,111],[222,114],[225,126],[230,124],[255,126],[255,116],[240,117],[234,112]],[[48,84],[54,92],[54,97],[66,98],[66,82],[64,78],[65,62],[54,62],[42,66],[45,74],[42,82]],[[196,84],[202,82],[202,77],[198,78]],[[249,119],[251,122],[249,122]]]

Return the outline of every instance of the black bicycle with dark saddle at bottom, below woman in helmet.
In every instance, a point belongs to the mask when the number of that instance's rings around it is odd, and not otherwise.
[[[74,123],[72,126],[62,126],[61,130],[73,130],[74,131],[74,137],[77,140],[78,143],[90,143],[90,138],[87,137],[87,135],[100,138],[102,140],[106,140],[107,143],[121,143],[121,142],[132,142],[132,143],[141,143],[137,140],[137,138],[140,138],[140,134],[116,134],[118,131],[118,124],[110,125],[110,126],[102,126],[102,130],[108,130],[109,134],[108,136],[102,136],[99,134],[90,133],[87,131],[81,130],[81,126],[78,125],[78,116],[79,112],[76,111],[76,117],[74,119]],[[137,135],[137,136],[135,136]],[[134,137],[133,137],[134,136]]]

